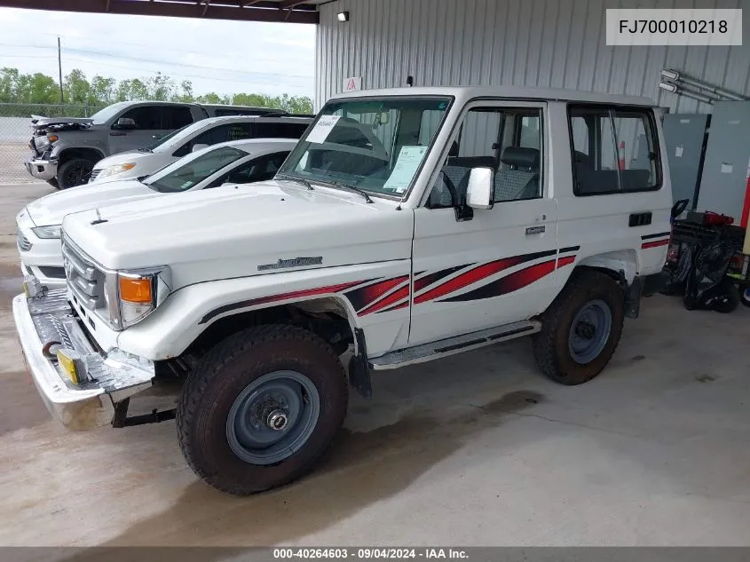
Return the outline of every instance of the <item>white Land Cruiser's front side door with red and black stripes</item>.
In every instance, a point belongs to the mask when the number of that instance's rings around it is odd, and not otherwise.
[[[555,296],[557,202],[549,198],[544,104],[468,107],[425,207],[414,210],[409,344],[525,320]],[[457,220],[470,169],[493,167],[492,209]],[[446,184],[446,188],[441,186]]]

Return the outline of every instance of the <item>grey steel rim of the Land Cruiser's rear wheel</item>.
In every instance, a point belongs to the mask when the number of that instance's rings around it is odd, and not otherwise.
[[[595,360],[612,333],[612,310],[603,300],[589,301],[571,323],[568,351],[572,360],[585,365]]]

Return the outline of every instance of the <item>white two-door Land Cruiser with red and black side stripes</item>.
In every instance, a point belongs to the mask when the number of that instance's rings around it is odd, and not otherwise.
[[[662,286],[671,206],[649,99],[359,91],[253,189],[67,215],[67,289],[29,277],[13,313],[59,420],[176,417],[193,471],[247,495],[311,471],[379,370],[533,336],[551,379],[598,375]],[[175,411],[128,416],[175,377]]]

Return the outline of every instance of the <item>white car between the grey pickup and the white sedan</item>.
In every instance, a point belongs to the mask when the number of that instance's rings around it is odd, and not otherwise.
[[[144,178],[205,146],[238,139],[299,139],[309,117],[232,116],[201,119],[138,150],[114,154],[94,164],[89,183]]]

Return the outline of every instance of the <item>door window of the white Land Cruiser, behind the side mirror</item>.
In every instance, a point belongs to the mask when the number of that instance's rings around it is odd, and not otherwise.
[[[430,193],[430,208],[462,202],[472,168],[494,170],[494,202],[541,197],[541,130],[541,109],[470,109]]]

